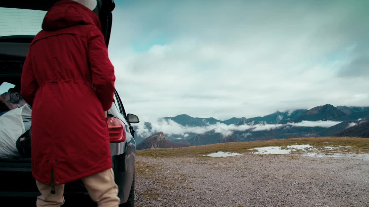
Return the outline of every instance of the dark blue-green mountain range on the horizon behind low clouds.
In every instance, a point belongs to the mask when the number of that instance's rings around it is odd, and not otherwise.
[[[276,111],[266,116],[258,117],[233,117],[228,120],[217,120],[213,117],[200,118],[191,117],[186,114],[175,117],[163,117],[164,120],[171,120],[177,124],[185,127],[206,127],[213,124],[225,124],[231,127],[231,134],[224,134],[222,131],[210,129],[202,133],[188,132],[186,134],[166,134],[168,141],[176,144],[184,145],[203,145],[220,143],[224,141],[253,141],[266,140],[273,138],[288,138],[288,137],[309,137],[309,136],[328,136],[334,135],[349,136],[350,134],[359,134],[366,136],[366,133],[359,133],[365,131],[369,126],[362,124],[369,120],[369,107],[356,106],[332,106],[329,104],[317,106],[307,109],[288,110],[284,112]],[[293,124],[301,122],[337,122],[334,126],[303,126],[304,124]],[[314,125],[314,124],[313,124]],[[255,126],[258,128],[256,129]],[[360,127],[359,127],[360,126]],[[359,127],[354,131],[347,131],[346,129],[352,127]],[[367,128],[366,128],[367,127]],[[151,123],[146,122],[145,128],[151,131]],[[264,129],[264,130],[263,130]],[[338,133],[341,132],[341,133]],[[155,131],[152,132],[157,133]],[[354,136],[354,135],[352,135]],[[355,135],[356,136],[356,135]],[[369,137],[369,136],[368,136]],[[136,142],[140,143],[146,137],[136,135]]]

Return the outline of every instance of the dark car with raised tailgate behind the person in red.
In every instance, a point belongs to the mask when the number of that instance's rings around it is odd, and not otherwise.
[[[15,86],[15,88],[20,87],[22,66],[30,43],[34,35],[37,34],[37,28],[39,27],[39,29],[41,29],[42,20],[39,22],[39,25],[35,25],[34,22],[33,26],[30,24],[29,31],[31,33],[33,32],[33,35],[24,35],[21,33],[22,31],[19,31],[19,28],[9,27],[9,25],[14,24],[12,21],[14,21],[15,18],[19,18],[19,21],[21,21],[21,18],[25,18],[21,17],[21,15],[25,13],[39,13],[40,17],[37,18],[41,19],[41,14],[46,13],[48,8],[56,1],[57,0],[12,0],[2,1],[0,3],[0,12],[2,13],[2,16],[0,15],[0,18],[2,18],[0,19],[0,90],[6,89],[7,85],[11,85],[12,87]],[[103,27],[103,35],[106,45],[108,45],[112,21],[111,12],[115,4],[113,0],[98,0],[98,3],[101,5],[99,18]],[[4,18],[6,11],[9,11],[8,18]],[[15,17],[14,11],[18,11]],[[16,15],[19,15],[19,17]],[[27,21],[20,23],[24,24],[24,22]],[[7,91],[0,91],[0,93],[2,92]],[[138,117],[133,114],[126,114],[117,91],[115,91],[114,98],[115,103],[113,103],[113,106],[108,110],[107,122],[111,138],[110,150],[115,183],[117,183],[119,188],[118,196],[121,199],[120,206],[133,207],[136,143],[131,123],[138,123],[139,120]],[[3,130],[1,126],[0,130]],[[18,201],[32,200],[34,203],[28,203],[27,206],[35,206],[35,199],[40,193],[37,189],[35,179],[32,177],[30,158],[20,156],[0,157],[0,183],[0,206],[3,206],[4,203],[2,201],[5,200],[12,200],[10,206],[19,206],[17,204]],[[64,197],[66,202],[65,205],[67,206],[68,203],[75,204],[76,201],[83,204],[82,206],[87,206],[86,204],[89,203],[93,204],[88,196],[86,188],[80,180],[66,183]]]

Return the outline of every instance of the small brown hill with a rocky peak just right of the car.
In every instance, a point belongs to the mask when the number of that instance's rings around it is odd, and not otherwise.
[[[189,147],[189,145],[170,142],[164,136],[164,133],[160,132],[158,134],[154,134],[146,138],[144,141],[141,141],[141,143],[139,143],[136,146],[136,149],[145,150],[150,148],[176,148],[176,147]]]

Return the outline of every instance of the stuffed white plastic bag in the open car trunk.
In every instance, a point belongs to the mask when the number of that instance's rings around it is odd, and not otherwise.
[[[25,117],[31,117],[31,109],[27,104],[0,116],[0,157],[19,156],[15,142],[26,131],[23,123]]]

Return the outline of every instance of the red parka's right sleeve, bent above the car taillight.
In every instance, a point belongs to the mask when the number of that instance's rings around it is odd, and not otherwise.
[[[97,98],[103,110],[108,110],[114,101],[114,67],[109,60],[103,34],[97,28],[90,34],[87,54]]]

